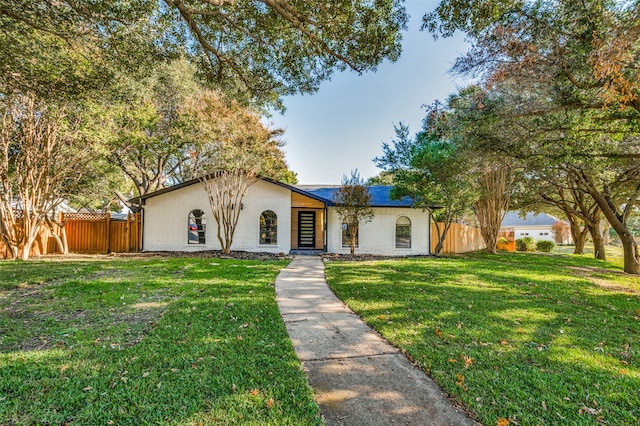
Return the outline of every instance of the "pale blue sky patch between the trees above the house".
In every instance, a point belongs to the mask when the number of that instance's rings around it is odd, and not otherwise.
[[[284,99],[284,115],[274,114],[271,125],[285,130],[283,140],[289,168],[300,184],[339,184],[358,169],[364,179],[377,175],[373,158],[382,143],[395,136],[394,125],[420,129],[424,104],[444,101],[464,85],[448,73],[456,57],[467,51],[462,35],[438,38],[420,31],[422,16],[435,0],[408,0],[411,16],[403,35],[402,55],[385,62],[375,73],[336,73],[312,95]]]

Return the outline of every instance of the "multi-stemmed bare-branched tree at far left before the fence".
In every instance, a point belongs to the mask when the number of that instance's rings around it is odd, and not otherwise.
[[[96,153],[64,104],[33,94],[1,99],[0,230],[15,259],[29,258],[40,227],[75,191]]]

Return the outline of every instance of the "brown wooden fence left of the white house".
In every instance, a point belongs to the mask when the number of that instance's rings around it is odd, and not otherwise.
[[[62,213],[60,223],[65,223],[70,253],[127,253],[142,248],[140,213],[127,215],[126,220],[113,220],[109,213]],[[57,226],[54,231],[60,233]],[[43,226],[31,248],[31,256],[57,252],[54,237]],[[7,254],[7,248],[0,242],[0,256]]]

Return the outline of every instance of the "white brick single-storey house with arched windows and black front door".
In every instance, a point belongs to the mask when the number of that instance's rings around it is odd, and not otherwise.
[[[292,186],[259,178],[247,192],[232,250],[349,253],[346,225],[334,207],[337,186]],[[430,216],[409,198],[391,200],[390,186],[372,186],[374,219],[360,225],[356,253],[430,254]],[[203,185],[194,179],[133,201],[143,209],[143,251],[219,250],[216,222]]]

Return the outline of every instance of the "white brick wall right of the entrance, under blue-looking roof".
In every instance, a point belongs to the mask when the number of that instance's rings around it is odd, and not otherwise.
[[[376,207],[375,217],[361,224],[356,254],[381,254],[393,256],[429,254],[429,214],[420,209],[402,207]],[[329,207],[327,221],[327,251],[349,254],[349,247],[342,247],[342,222],[335,208]],[[396,220],[406,216],[411,220],[411,248],[398,249]]]

